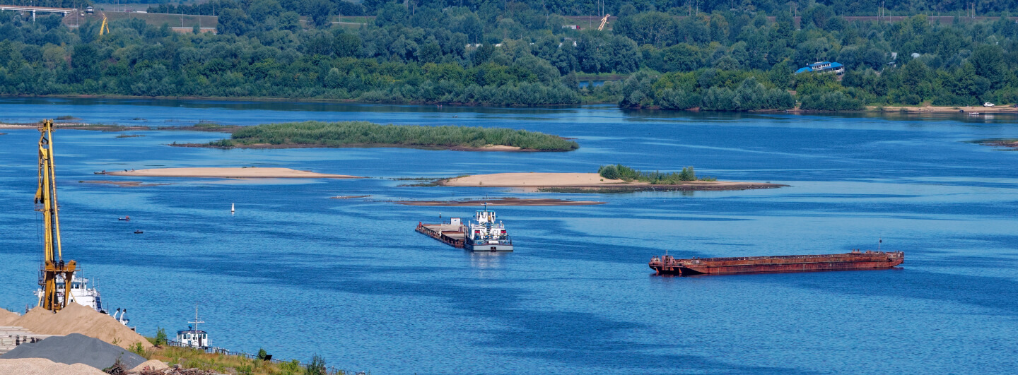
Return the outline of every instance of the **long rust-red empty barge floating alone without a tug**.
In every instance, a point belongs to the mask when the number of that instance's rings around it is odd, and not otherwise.
[[[859,251],[845,254],[747,256],[730,258],[675,259],[655,256],[648,265],[658,274],[734,274],[807,272],[824,270],[891,268],[905,261],[901,251]]]

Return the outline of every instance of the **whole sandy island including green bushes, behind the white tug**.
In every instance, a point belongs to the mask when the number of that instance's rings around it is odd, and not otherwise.
[[[625,193],[636,191],[694,191],[770,189],[788,185],[729,182],[696,178],[692,167],[681,172],[642,172],[622,166],[602,166],[599,173],[496,173],[460,176],[421,186],[501,187],[555,193]]]

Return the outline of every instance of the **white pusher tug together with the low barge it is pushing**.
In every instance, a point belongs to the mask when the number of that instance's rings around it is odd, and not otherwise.
[[[475,223],[467,225],[459,217],[442,224],[417,223],[416,231],[446,245],[470,251],[513,251],[512,240],[506,233],[505,225],[495,222],[495,211],[488,209],[488,203],[485,203],[485,209],[478,209],[474,213],[474,220]]]

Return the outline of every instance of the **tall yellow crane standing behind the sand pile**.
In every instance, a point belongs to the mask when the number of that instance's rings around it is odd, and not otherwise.
[[[60,206],[57,204],[56,173],[53,163],[53,120],[44,120],[39,127],[39,190],[36,190],[36,210],[43,212],[46,231],[46,257],[40,271],[39,286],[43,294],[39,296],[39,306],[51,311],[60,311],[73,300],[70,294],[71,282],[77,264],[63,260],[60,248]],[[57,279],[63,279],[63,291],[57,290]]]

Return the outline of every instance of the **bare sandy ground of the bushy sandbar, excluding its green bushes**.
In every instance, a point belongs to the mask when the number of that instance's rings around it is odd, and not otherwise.
[[[770,189],[788,185],[759,182],[689,181],[675,185],[652,185],[645,182],[609,180],[597,173],[497,173],[440,180],[440,186],[512,187],[575,190],[746,190]]]

